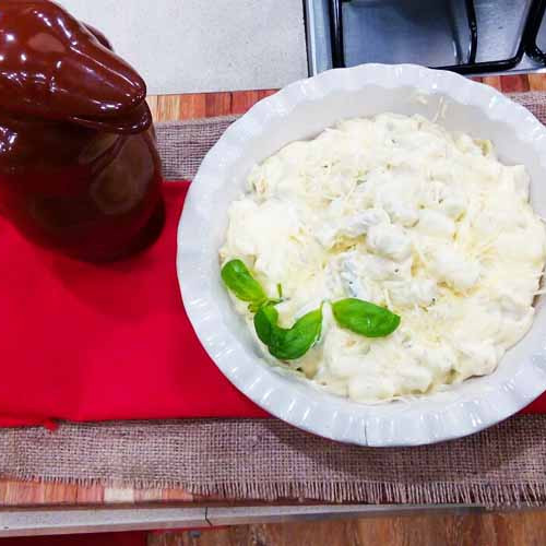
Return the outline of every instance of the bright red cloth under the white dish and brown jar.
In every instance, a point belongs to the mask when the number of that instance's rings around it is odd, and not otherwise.
[[[0,222],[0,426],[266,414],[201,347],[176,277],[188,182],[164,185],[161,239],[91,265],[39,249]],[[531,411],[546,412],[546,396]]]

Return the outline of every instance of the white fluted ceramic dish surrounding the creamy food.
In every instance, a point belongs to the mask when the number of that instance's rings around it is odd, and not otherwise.
[[[285,144],[344,118],[420,114],[449,130],[490,139],[502,163],[523,164],[532,203],[546,217],[546,130],[525,108],[461,75],[400,64],[332,70],[288,85],[235,122],[210,151],[191,185],[178,232],[177,269],[189,318],[219,370],[272,415],[334,440],[416,446],[476,432],[546,390],[546,309],[538,298],[531,332],[488,377],[447,392],[361,405],[321,391],[260,357],[219,278],[229,203],[251,167]],[[206,392],[203,393],[206,396]]]

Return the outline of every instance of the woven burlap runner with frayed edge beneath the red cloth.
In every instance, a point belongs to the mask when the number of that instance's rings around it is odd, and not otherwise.
[[[546,120],[546,94],[514,99]],[[191,178],[234,118],[158,127],[170,179]],[[177,487],[230,499],[383,503],[546,502],[546,415],[437,446],[369,449],[275,419],[170,420],[0,431],[0,476]]]

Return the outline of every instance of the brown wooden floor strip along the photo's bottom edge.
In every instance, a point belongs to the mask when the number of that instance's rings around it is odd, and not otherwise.
[[[543,545],[546,511],[245,525],[149,535],[149,546]]]

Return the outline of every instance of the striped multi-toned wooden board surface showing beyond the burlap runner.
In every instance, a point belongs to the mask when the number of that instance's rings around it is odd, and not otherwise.
[[[546,91],[546,74],[476,79],[502,92]],[[274,91],[152,96],[149,103],[157,121],[244,114]],[[179,489],[118,489],[114,487],[40,484],[0,479],[0,507],[82,506],[106,503],[195,501]]]

